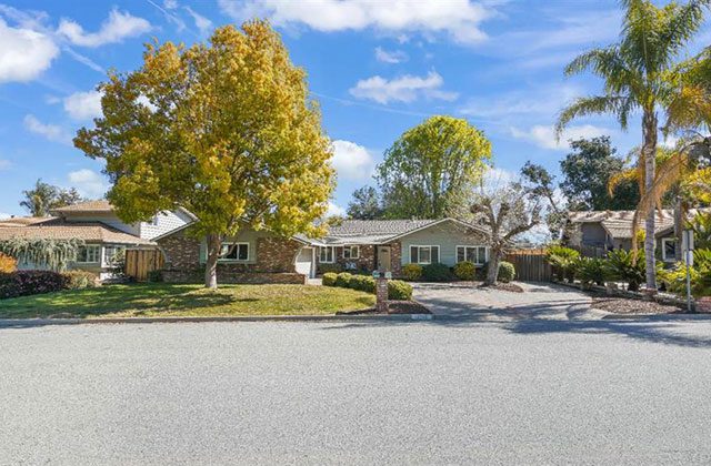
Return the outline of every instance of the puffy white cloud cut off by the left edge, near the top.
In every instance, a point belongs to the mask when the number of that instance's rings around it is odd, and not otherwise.
[[[27,82],[38,78],[59,55],[59,48],[46,34],[11,28],[0,18],[0,83]]]

